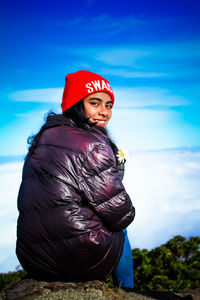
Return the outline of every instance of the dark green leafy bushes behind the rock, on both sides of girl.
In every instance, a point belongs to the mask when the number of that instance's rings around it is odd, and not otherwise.
[[[187,240],[178,235],[150,251],[132,252],[135,290],[180,292],[200,287],[200,237]],[[0,274],[0,290],[25,275],[23,270]],[[113,286],[111,276],[106,283]]]

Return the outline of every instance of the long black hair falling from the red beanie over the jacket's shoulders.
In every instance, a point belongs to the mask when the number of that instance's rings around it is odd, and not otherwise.
[[[46,123],[41,127],[39,132],[36,135],[28,137],[27,143],[30,145],[28,155],[31,155],[34,152],[40,136],[47,128],[69,124],[67,122],[69,120],[79,128],[104,136],[109,141],[114,154],[117,154],[118,148],[109,137],[107,130],[104,127],[97,126],[95,123],[89,122],[83,100],[81,100],[67,109],[62,115],[53,112],[47,114]]]

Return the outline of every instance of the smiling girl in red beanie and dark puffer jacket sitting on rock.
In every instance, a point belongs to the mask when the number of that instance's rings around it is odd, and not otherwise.
[[[71,73],[63,114],[49,115],[32,140],[18,195],[16,247],[32,278],[105,280],[113,273],[118,286],[133,287],[124,229],[135,210],[105,129],[113,104],[106,79]]]

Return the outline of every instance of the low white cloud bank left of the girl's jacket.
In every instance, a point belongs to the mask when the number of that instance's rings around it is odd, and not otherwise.
[[[14,271],[19,262],[15,255],[17,195],[22,162],[0,164],[0,270]]]

